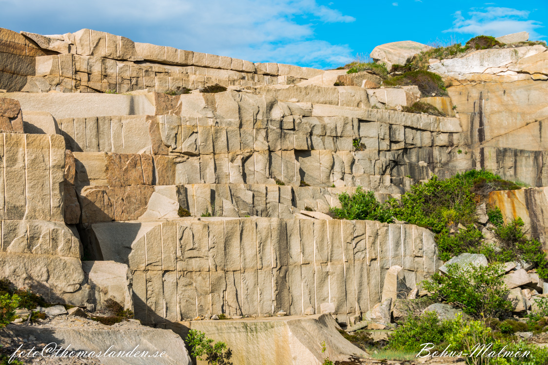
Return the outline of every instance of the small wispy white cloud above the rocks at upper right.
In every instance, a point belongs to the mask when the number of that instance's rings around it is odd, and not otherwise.
[[[461,11],[456,11],[453,27],[444,32],[500,37],[504,34],[527,31],[531,39],[543,37],[535,31],[543,27],[542,22],[529,20],[529,11],[498,7],[471,10],[466,18]]]

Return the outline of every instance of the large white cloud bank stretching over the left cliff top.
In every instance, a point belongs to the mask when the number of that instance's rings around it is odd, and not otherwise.
[[[0,24],[15,31],[92,28],[136,42],[316,67],[338,66],[352,49],[316,39],[315,27],[356,20],[316,0],[0,0],[0,8]]]

